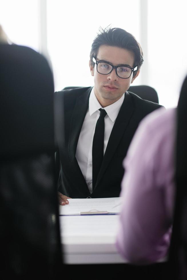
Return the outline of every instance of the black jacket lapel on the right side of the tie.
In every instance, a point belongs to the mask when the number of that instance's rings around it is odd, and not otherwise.
[[[112,129],[112,132],[111,132],[109,140],[108,140],[108,145],[106,147],[106,151],[104,154],[102,166],[101,166],[100,172],[98,174],[98,180],[96,182],[96,187],[97,187],[99,181],[101,180],[104,172],[106,171],[108,164],[112,160],[112,157],[116,151],[116,148],[118,147],[118,145],[120,143],[120,140],[122,139],[122,136],[128,126],[128,123],[130,121],[130,118],[132,117],[133,112],[134,112],[134,104],[133,104],[132,98],[129,95],[129,93],[126,92],[124,102],[120,108],[120,111],[118,113],[118,116],[114,123],[114,127]]]

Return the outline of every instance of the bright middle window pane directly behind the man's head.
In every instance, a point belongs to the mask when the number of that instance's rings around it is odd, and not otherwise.
[[[139,40],[139,0],[47,1],[47,45],[55,90],[93,85],[89,70],[91,44],[99,27],[110,24],[127,30]],[[72,63],[76,65],[73,73]]]

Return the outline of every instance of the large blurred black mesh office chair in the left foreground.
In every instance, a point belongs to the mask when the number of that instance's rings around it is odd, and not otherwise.
[[[53,77],[46,59],[0,45],[1,279],[59,279]]]

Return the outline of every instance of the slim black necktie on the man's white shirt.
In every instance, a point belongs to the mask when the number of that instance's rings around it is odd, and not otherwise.
[[[100,117],[96,123],[95,133],[93,136],[93,147],[92,147],[92,187],[96,185],[98,173],[101,168],[103,161],[103,150],[104,150],[104,133],[105,133],[105,116],[106,111],[100,110]]]

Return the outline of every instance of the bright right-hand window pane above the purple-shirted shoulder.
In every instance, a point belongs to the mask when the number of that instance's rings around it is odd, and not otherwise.
[[[148,1],[148,84],[166,108],[177,106],[187,74],[186,11],[186,1]]]

